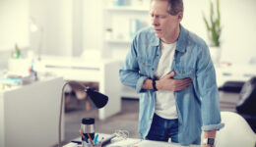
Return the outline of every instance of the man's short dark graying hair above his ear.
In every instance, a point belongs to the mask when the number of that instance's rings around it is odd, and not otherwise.
[[[154,0],[151,0],[151,2]],[[155,0],[157,1],[157,0]],[[183,7],[183,0],[160,0],[160,1],[167,1],[169,4],[169,8],[168,8],[168,13],[171,16],[176,16],[179,12],[184,11],[184,7]]]

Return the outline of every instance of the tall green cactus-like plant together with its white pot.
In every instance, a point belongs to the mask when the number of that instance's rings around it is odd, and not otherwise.
[[[211,52],[211,57],[217,66],[219,66],[221,59],[221,13],[220,13],[220,1],[216,0],[216,9],[214,9],[214,3],[210,2],[210,21],[206,19],[203,13],[203,20],[207,28],[207,34],[209,37],[209,47]]]

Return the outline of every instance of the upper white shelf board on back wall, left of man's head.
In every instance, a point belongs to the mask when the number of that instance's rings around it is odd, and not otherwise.
[[[148,7],[132,7],[132,6],[110,6],[106,8],[107,11],[133,11],[133,12],[149,12]]]

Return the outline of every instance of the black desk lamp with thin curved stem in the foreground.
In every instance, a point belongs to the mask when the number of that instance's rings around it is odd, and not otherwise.
[[[58,147],[61,147],[61,117],[62,117],[62,107],[63,107],[63,99],[64,99],[64,89],[66,85],[76,85],[76,88],[79,90],[87,92],[88,96],[91,98],[91,100],[96,105],[96,108],[100,109],[104,107],[108,101],[108,97],[106,95],[103,95],[94,89],[91,89],[90,87],[86,87],[82,83],[78,81],[67,81],[63,87],[62,87],[62,93],[61,93],[61,102],[60,102],[60,115],[59,115],[59,139],[58,139]]]

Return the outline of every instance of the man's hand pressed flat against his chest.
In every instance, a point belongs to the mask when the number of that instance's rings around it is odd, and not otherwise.
[[[175,73],[171,72],[164,75],[159,80],[157,80],[156,81],[157,89],[168,90],[168,91],[179,91],[188,87],[192,83],[192,80],[190,78],[183,78],[183,79],[171,78],[174,75]]]

